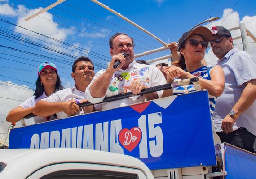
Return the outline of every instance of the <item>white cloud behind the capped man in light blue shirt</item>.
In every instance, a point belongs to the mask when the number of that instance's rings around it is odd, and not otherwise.
[[[240,20],[239,14],[236,11],[233,11],[232,9],[228,8],[223,11],[222,17],[217,20],[210,22],[206,24],[205,26],[209,29],[212,28],[212,26],[224,26],[227,29],[239,26],[240,23],[244,23],[246,28],[253,33],[254,36],[256,36],[255,32],[255,26],[256,26],[256,15],[255,16],[245,16]],[[232,30],[231,31],[232,37],[240,36],[241,32],[240,30]],[[247,36],[248,42],[254,42],[252,38]],[[243,50],[242,46],[242,40],[237,39],[234,40],[234,47],[238,48],[239,50]],[[249,53],[253,56],[254,59],[256,59],[256,43],[249,43]],[[205,54],[205,60],[207,64],[213,65],[217,62],[217,57],[213,54],[212,49],[210,48],[208,52]]]

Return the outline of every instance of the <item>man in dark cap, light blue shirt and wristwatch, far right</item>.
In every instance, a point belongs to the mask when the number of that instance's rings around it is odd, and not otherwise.
[[[212,27],[210,45],[225,73],[225,89],[216,102],[213,123],[221,142],[251,152],[256,138],[256,61],[234,48],[229,30]]]

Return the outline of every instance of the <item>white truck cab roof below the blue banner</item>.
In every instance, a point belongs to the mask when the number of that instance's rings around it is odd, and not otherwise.
[[[139,159],[75,148],[1,149],[0,179],[154,179]]]

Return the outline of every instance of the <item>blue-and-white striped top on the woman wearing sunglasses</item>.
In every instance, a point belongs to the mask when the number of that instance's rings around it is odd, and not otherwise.
[[[193,72],[190,72],[190,73],[192,75],[196,76],[196,77],[211,80],[210,71],[211,71],[212,67],[203,66],[203,67],[201,67],[201,68],[199,68],[199,69],[197,69]],[[186,71],[186,69],[185,69],[185,71]],[[177,88],[173,88],[173,95],[184,94],[184,93],[188,93],[188,92],[191,92],[191,91],[195,91],[195,88],[194,88],[193,84],[192,85],[179,86]],[[213,115],[213,112],[215,110],[216,100],[217,100],[216,96],[209,95],[211,116]]]

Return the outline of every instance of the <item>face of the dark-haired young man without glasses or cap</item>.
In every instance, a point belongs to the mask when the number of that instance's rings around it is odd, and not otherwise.
[[[94,75],[93,64],[88,61],[77,62],[75,72],[72,72],[71,74],[71,76],[75,79],[75,83],[92,81]]]

